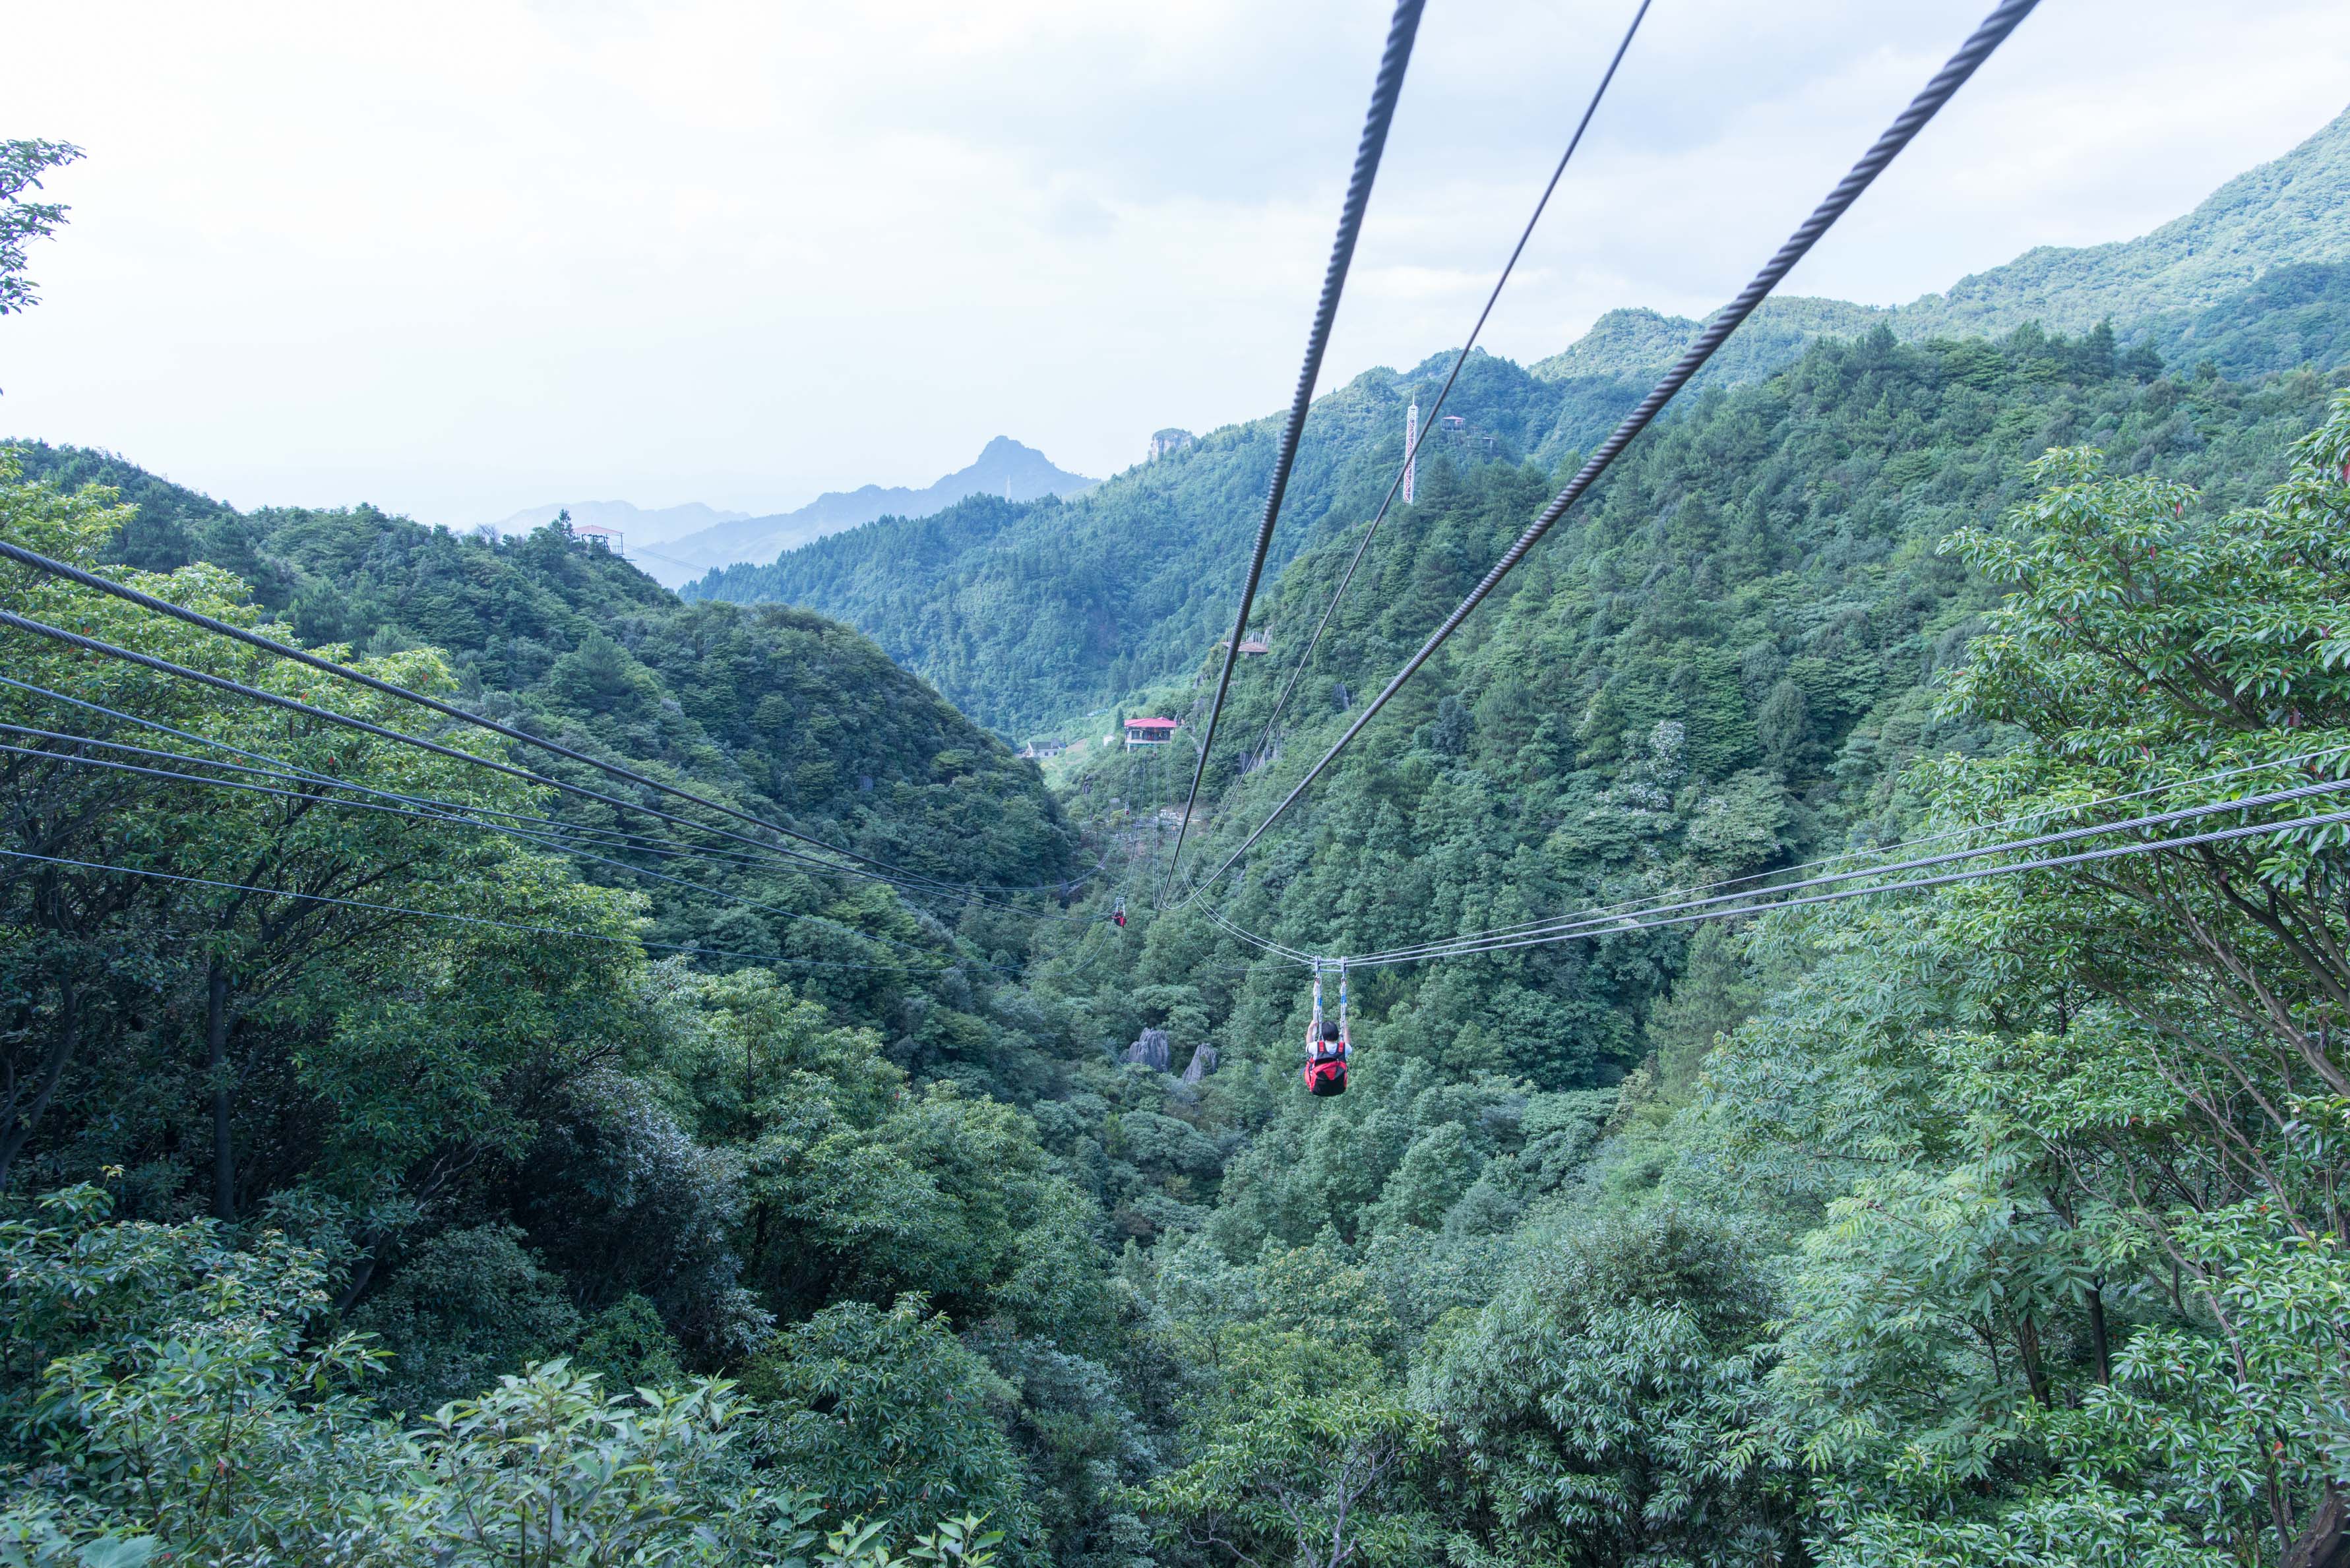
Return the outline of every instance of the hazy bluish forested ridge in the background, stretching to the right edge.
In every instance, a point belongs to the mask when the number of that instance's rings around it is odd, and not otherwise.
[[[2007,334],[2042,317],[2049,331],[2061,320],[2087,334],[2106,315],[2138,376],[2202,360],[2230,376],[2326,369],[2350,355],[2345,209],[2350,115],[2143,240],[2033,252],[1899,310],[1767,301],[1694,390],[1767,376],[1824,336],[1878,327],[1906,341]],[[1530,369],[1476,355],[1445,407],[1466,428],[1438,433],[1429,454],[1556,468],[1638,402],[1697,327],[1619,310]],[[1316,400],[1274,571],[1377,508],[1401,458],[1403,407],[1412,397],[1429,407],[1448,362],[1438,355],[1401,376],[1365,371]],[[886,517],[771,567],[714,571],[684,592],[841,616],[982,722],[1053,726],[1189,672],[1229,632],[1276,430],[1278,421],[1262,418],[1210,433],[1074,503],[971,501],[928,520]],[[1274,646],[1288,649],[1288,628],[1269,625]]]

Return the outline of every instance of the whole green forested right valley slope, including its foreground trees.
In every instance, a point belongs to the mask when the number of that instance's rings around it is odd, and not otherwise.
[[[2350,402],[2287,454],[2329,395],[1817,346],[1638,447],[1215,903],[1365,952],[2341,748]],[[1213,778],[1201,870],[1544,484],[1431,475],[1281,759]],[[1119,757],[1081,802],[1184,783]],[[1154,1121],[1128,1173],[1112,1126],[1128,1267],[1224,1368],[1154,1505],[1271,1552],[1302,1490],[1398,1563],[2324,1561],[2338,832],[1358,971],[1342,1100],[1295,1084],[1302,969],[1196,910],[1055,959],[1224,1058],[1156,1112],[1222,1166]]]

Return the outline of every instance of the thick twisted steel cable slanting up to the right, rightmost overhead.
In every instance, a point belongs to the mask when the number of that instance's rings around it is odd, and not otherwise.
[[[1842,181],[1838,181],[1835,190],[1831,190],[1826,200],[1821,200],[1819,207],[1812,209],[1812,216],[1807,216],[1802,226],[1795,228],[1793,235],[1788,235],[1786,244],[1779,247],[1779,254],[1774,254],[1762,266],[1762,270],[1755,273],[1753,282],[1748,282],[1737,299],[1732,299],[1713,315],[1713,320],[1706,324],[1704,331],[1697,334],[1697,341],[1690,343],[1690,348],[1680,355],[1673,369],[1664,374],[1664,381],[1659,381],[1650,390],[1650,395],[1640,400],[1640,407],[1636,407],[1631,414],[1624,416],[1624,423],[1619,423],[1614,433],[1610,433],[1607,440],[1598,444],[1591,458],[1574,473],[1572,480],[1567,480],[1567,487],[1558,491],[1558,496],[1551,498],[1546,508],[1542,508],[1542,515],[1535,517],[1535,522],[1525,529],[1525,534],[1520,534],[1516,543],[1511,543],[1509,550],[1502,552],[1502,559],[1492,564],[1492,571],[1488,571],[1485,578],[1469,590],[1469,597],[1464,597],[1450,616],[1445,616],[1443,625],[1438,625],[1429,635],[1429,639],[1419,646],[1419,651],[1405,661],[1405,665],[1396,672],[1394,679],[1386,682],[1379,696],[1363,708],[1363,715],[1347,726],[1347,733],[1342,733],[1337,743],[1328,752],[1323,752],[1321,762],[1307,769],[1307,776],[1297,780],[1297,785],[1281,799],[1278,806],[1274,806],[1274,811],[1262,823],[1257,823],[1257,827],[1241,842],[1241,846],[1234,849],[1222,865],[1217,865],[1213,872],[1208,872],[1208,877],[1203,877],[1194,886],[1189,898],[1198,898],[1206,889],[1215,886],[1215,882],[1224,872],[1229,872],[1234,863],[1238,863],[1238,858],[1246,856],[1248,849],[1260,837],[1264,837],[1264,830],[1271,827],[1276,820],[1281,820],[1281,816],[1292,804],[1297,804],[1297,799],[1314,785],[1314,780],[1321,778],[1332,762],[1337,762],[1340,752],[1344,752],[1354,743],[1354,738],[1363,733],[1363,726],[1370,724],[1379,715],[1379,710],[1384,710],[1386,703],[1394,701],[1394,696],[1403,689],[1403,684],[1419,672],[1419,665],[1424,665],[1436,654],[1436,649],[1441,649],[1445,639],[1452,637],[1455,630],[1459,630],[1462,621],[1466,621],[1469,614],[1478,604],[1483,604],[1495,588],[1502,585],[1502,578],[1506,578],[1518,567],[1518,562],[1525,559],[1525,552],[1532,550],[1537,543],[1542,543],[1542,536],[1551,531],[1551,524],[1556,524],[1567,512],[1567,508],[1574,505],[1574,501],[1582,498],[1582,494],[1589,491],[1591,484],[1596,484],[1603,473],[1607,473],[1607,468],[1617,461],[1617,456],[1622,456],[1622,451],[1633,442],[1633,437],[1647,430],[1647,425],[1657,418],[1664,404],[1671,402],[1673,395],[1683,386],[1687,386],[1699,369],[1704,369],[1706,360],[1713,357],[1713,350],[1718,350],[1723,341],[1727,341],[1730,334],[1737,331],[1737,327],[1748,315],[1753,315],[1755,306],[1760,306],[1770,296],[1770,292],[1779,287],[1779,280],[1784,280],[1788,270],[1793,270],[1793,266],[1802,261],[1814,244],[1819,244],[1819,237],[1828,233],[1828,228],[1833,228],[1840,216],[1845,216],[1852,202],[1856,202],[1861,193],[1868,190],[1868,186],[1878,179],[1878,174],[1885,172],[1885,167],[1901,153],[1901,148],[1906,148],[1918,136],[1918,132],[1922,132],[1925,125],[1941,110],[1941,106],[1948,103],[1950,96],[1967,82],[1967,78],[1972,78],[1974,71],[1986,59],[1990,59],[1990,52],[1998,49],[2007,40],[2007,35],[2016,31],[2016,24],[2030,16],[2037,2],[2040,0],[2002,0],[2002,5],[1983,19],[1983,24],[1967,38],[1967,42],[1960,45],[1958,54],[1953,54],[1950,61],[1934,73],[1934,80],[1925,85],[1925,92],[1911,99],[1911,106],[1904,108],[1901,115],[1885,129],[1885,134],[1878,136],[1875,146],[1871,146],[1861,155],[1861,160],[1852,165],[1852,172],[1845,174]],[[1227,661],[1227,672],[1229,672],[1229,661]],[[1189,903],[1189,898],[1184,903]]]

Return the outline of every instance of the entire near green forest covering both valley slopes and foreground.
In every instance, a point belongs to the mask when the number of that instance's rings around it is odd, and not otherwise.
[[[2040,331],[1819,343],[1708,393],[1215,907],[1361,952],[2127,790],[2195,802],[2221,766],[2258,764],[2235,795],[2341,776],[2350,402],[2291,458],[2329,397]],[[143,505],[9,482],[14,541],[237,557],[395,679],[956,875],[1065,877],[1072,835],[1104,860],[1067,910],[909,900],[7,632],[12,679],[169,717],[181,738],[146,738],[172,755],[230,741],[564,823],[533,844],[75,769],[28,731],[129,731],[9,686],[0,1152],[9,1194],[47,1197],[0,1213],[0,1540],[31,1561],[465,1561],[540,1540],[550,1495],[583,1561],[2341,1549],[2343,1345],[2308,1307],[2350,1291],[2338,827],[1361,971],[1354,1086],[1314,1100],[1304,971],[1156,898],[1180,748],[1095,752],[1055,806],[806,614],[677,607],[559,531],[237,517],[28,458]],[[1426,465],[1238,773],[1276,675],[1246,670],[1201,856],[1549,482],[1499,442]],[[1347,548],[1290,564],[1276,625]],[[261,614],[219,564],[143,581]],[[80,588],[5,592],[404,722]],[[407,646],[428,621],[451,654]],[[2291,762],[2315,745],[2341,748],[2324,773]],[[783,795],[825,759],[881,769],[872,797]],[[595,827],[653,837],[604,856]],[[700,957],[632,947],[663,931]]]

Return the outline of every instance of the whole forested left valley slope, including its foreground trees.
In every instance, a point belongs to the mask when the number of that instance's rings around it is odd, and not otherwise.
[[[70,489],[89,480],[125,503]],[[242,515],[103,454],[14,447],[0,531],[214,616],[348,637],[395,684],[909,872],[1083,882],[1036,769],[867,639],[806,611],[679,607],[555,527],[484,541],[371,508]],[[40,574],[9,569],[0,597],[421,726]],[[35,1406],[96,1378],[110,1392],[85,1385],[92,1401],[186,1418],[141,1427],[141,1462],[202,1453],[209,1472],[219,1453],[237,1476],[190,1519],[176,1493],[157,1512],[28,1479],[9,1446],[5,1540],[317,1561],[308,1530],[331,1516],[345,1547],[367,1542],[345,1561],[407,1563],[526,1528],[496,1514],[524,1474],[578,1486],[564,1530],[670,1533],[707,1563],[862,1519],[900,1549],[947,1521],[931,1549],[968,1535],[973,1563],[987,1542],[954,1514],[1008,1530],[1008,1561],[1060,1537],[1074,1559],[1116,1526],[1107,1502],[1149,1446],[1093,1359],[1116,1345],[1093,1208],[1010,1105],[1093,1051],[1083,1020],[1020,985],[1036,924],[1065,919],[1048,896],[827,875],[536,752],[517,759],[616,802],[5,637],[0,705],[33,745],[0,762],[0,983],[21,1025],[0,1041],[0,1187],[49,1197],[0,1199],[0,1403],[12,1434],[75,1441],[73,1418]],[[141,1284],[108,1295],[92,1267]],[[94,1291],[113,1302],[96,1314]],[[61,1361],[80,1349],[94,1359]],[[221,1375],[254,1420],[188,1403],[186,1356],[235,1356]],[[841,1359],[898,1385],[841,1408]],[[606,1403],[693,1371],[747,1375],[759,1429],[724,1387],[644,1418]],[[461,1415],[416,1448],[404,1427],[449,1399]],[[1072,1420],[1112,1422],[1107,1469],[1069,1453],[1095,1439],[1053,1436]],[[531,1434],[531,1465],[484,1425]],[[919,1474],[877,1469],[909,1439],[931,1453]],[[613,1455],[642,1483],[616,1483]],[[1065,1465],[1079,1474],[1043,1479]]]

